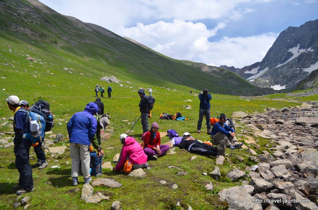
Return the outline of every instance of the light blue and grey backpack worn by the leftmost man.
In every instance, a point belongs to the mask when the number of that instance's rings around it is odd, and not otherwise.
[[[37,113],[30,112],[25,109],[18,109],[17,111],[23,111],[26,113],[29,129],[29,133],[26,138],[28,138],[31,143],[37,143],[40,140],[43,140],[45,135],[44,118]]]

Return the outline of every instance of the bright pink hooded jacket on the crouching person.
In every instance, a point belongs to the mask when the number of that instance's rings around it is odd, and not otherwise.
[[[117,171],[124,167],[128,156],[129,161],[133,164],[144,164],[147,162],[147,155],[143,152],[142,147],[133,137],[125,138],[125,143],[121,149],[121,159],[116,165]]]

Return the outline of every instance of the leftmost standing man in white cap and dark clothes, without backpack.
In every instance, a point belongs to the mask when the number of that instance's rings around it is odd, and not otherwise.
[[[20,173],[19,183],[13,186],[17,189],[17,194],[31,192],[33,188],[32,169],[29,160],[29,152],[31,141],[26,138],[25,134],[29,133],[28,119],[26,111],[19,106],[19,98],[17,96],[9,96],[6,99],[9,109],[14,111],[13,130],[15,137],[14,154],[16,156],[15,166]],[[21,109],[19,111],[19,109]]]

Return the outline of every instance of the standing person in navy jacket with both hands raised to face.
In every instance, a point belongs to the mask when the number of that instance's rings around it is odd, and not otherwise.
[[[206,119],[206,129],[207,132],[211,132],[211,123],[210,123],[210,117],[211,117],[211,104],[210,100],[212,99],[211,94],[208,93],[208,89],[204,89],[203,92],[200,92],[199,94],[200,99],[200,110],[199,110],[199,120],[197,124],[197,132],[201,132],[202,127],[202,121],[203,117],[205,116]]]

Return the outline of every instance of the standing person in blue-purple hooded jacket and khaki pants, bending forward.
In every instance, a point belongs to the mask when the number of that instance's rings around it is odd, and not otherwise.
[[[78,184],[79,163],[81,162],[84,183],[92,181],[89,173],[91,140],[97,131],[97,120],[93,116],[98,111],[97,104],[90,102],[84,111],[76,112],[67,124],[70,138],[70,157],[72,159],[73,186]],[[100,148],[101,149],[101,148]]]

